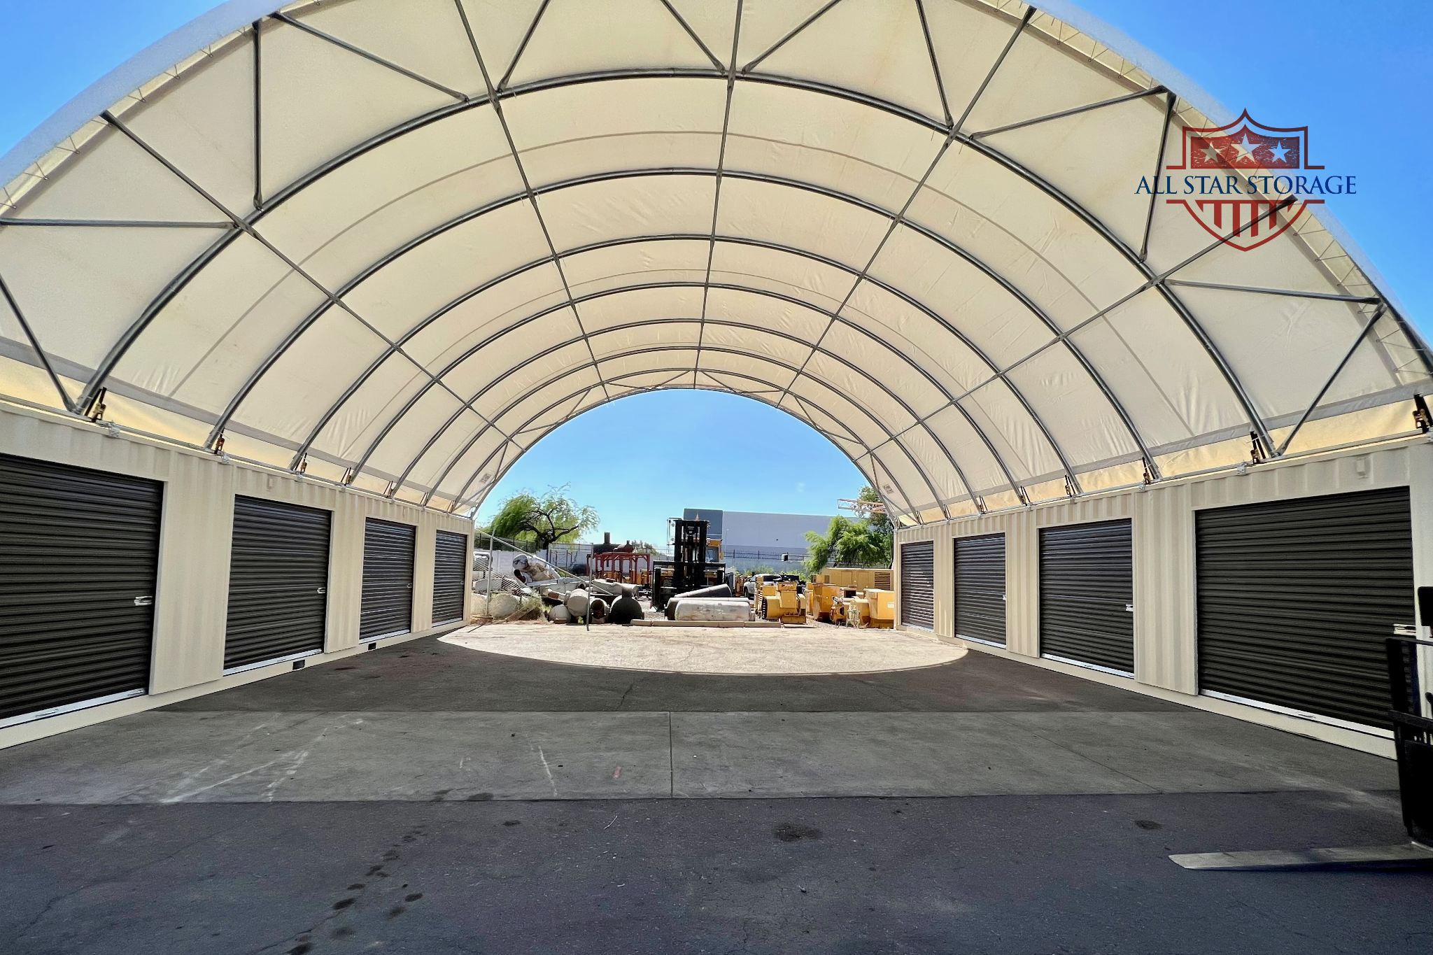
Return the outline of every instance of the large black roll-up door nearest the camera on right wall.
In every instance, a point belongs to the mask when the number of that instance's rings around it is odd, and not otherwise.
[[[1199,689],[1390,726],[1384,639],[1412,624],[1406,487],[1195,514]]]

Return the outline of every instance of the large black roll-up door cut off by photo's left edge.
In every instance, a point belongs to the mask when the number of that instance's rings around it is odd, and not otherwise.
[[[0,454],[0,720],[148,689],[162,500]]]

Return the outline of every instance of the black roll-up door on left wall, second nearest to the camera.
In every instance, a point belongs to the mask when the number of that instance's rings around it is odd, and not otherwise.
[[[234,498],[224,669],[324,649],[328,511]]]

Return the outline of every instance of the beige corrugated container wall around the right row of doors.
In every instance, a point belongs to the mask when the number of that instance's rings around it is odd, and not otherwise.
[[[1433,442],[1423,438],[1265,462],[1248,468],[1245,474],[1224,471],[1144,490],[906,527],[897,530],[896,541],[936,543],[937,636],[957,636],[954,538],[1003,533],[1007,646],[1002,650],[970,643],[972,649],[1391,756],[1391,740],[1376,727],[1348,729],[1315,717],[1199,694],[1194,538],[1195,511],[1201,508],[1389,487],[1409,487],[1414,584],[1433,584]],[[1039,528],[1118,518],[1129,518],[1134,525],[1134,679],[1040,659]],[[898,546],[896,551],[900,553]],[[898,573],[896,576],[898,578]],[[1412,593],[1409,606],[1412,623]]]

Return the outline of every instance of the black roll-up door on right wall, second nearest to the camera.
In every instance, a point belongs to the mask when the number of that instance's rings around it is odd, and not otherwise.
[[[1040,528],[1040,654],[1135,672],[1129,521]]]

